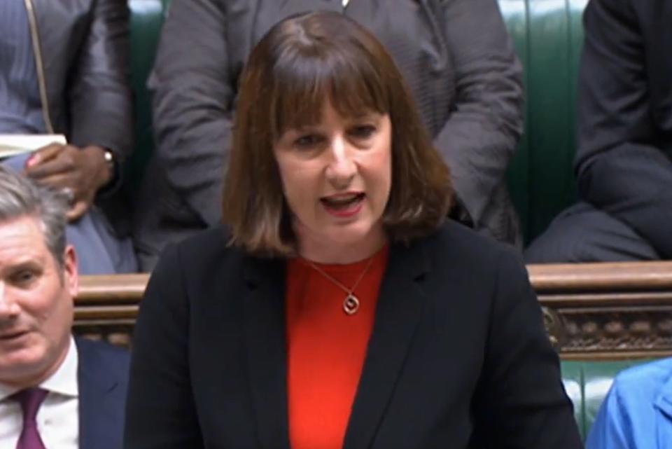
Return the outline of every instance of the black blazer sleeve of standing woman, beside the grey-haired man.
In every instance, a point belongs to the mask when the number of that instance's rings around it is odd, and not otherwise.
[[[125,449],[203,447],[188,366],[186,291],[168,247],[141,301],[126,403]]]

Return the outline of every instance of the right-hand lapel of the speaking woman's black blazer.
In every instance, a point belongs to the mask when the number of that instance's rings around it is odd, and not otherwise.
[[[344,449],[370,447],[394,393],[426,300],[419,285],[430,268],[425,251],[422,244],[391,248]]]

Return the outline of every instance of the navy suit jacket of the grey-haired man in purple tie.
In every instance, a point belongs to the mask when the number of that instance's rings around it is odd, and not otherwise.
[[[99,354],[77,343],[80,449],[116,449],[121,444],[124,398],[115,396],[116,373],[105,368]],[[116,442],[116,443],[115,443]]]

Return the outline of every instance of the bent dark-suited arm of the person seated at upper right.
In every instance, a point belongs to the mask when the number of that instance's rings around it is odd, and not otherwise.
[[[670,258],[672,160],[657,147],[654,74],[647,73],[656,66],[647,58],[658,50],[646,48],[656,44],[644,41],[642,26],[630,0],[593,0],[585,10],[576,170],[584,200]]]

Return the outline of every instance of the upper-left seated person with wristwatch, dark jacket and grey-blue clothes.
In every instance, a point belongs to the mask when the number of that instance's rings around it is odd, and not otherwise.
[[[69,142],[1,163],[69,195],[82,274],[137,271],[117,192],[132,149],[127,53],[125,1],[0,1],[0,134]]]

